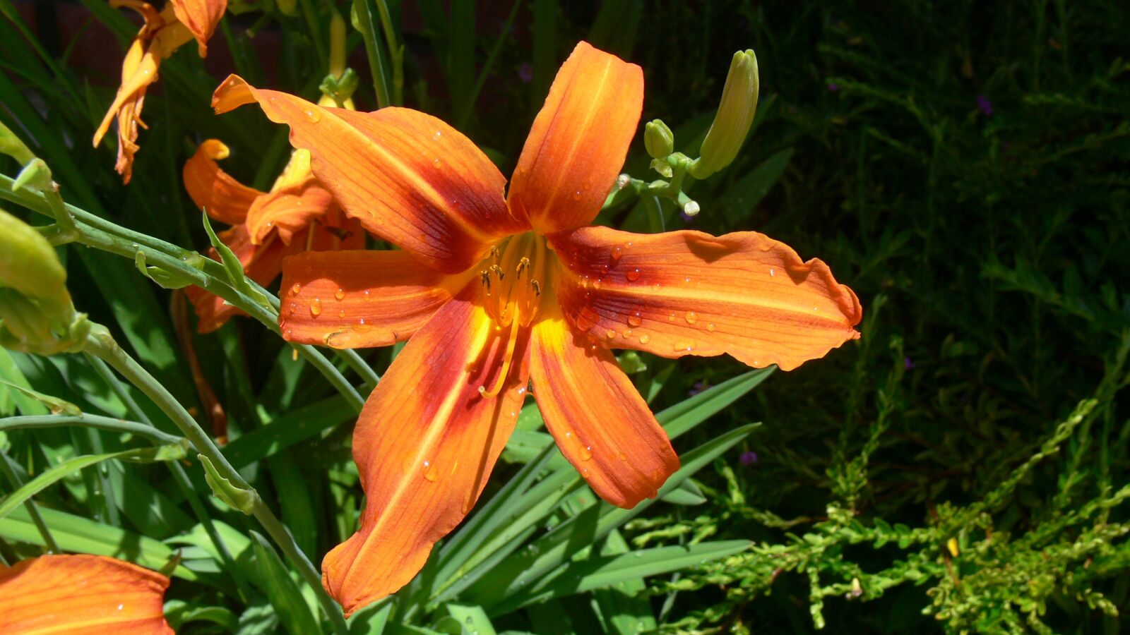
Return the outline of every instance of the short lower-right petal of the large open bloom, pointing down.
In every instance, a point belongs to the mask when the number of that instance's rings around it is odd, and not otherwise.
[[[538,409],[593,492],[632,508],[655,496],[679,458],[612,354],[576,334],[555,303],[544,305],[530,345]]]

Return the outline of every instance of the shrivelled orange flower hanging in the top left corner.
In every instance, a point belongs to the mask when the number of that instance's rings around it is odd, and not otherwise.
[[[118,95],[94,132],[94,146],[98,147],[110,130],[110,123],[118,118],[118,163],[114,169],[122,175],[123,182],[129,183],[133,174],[133,155],[139,149],[138,127],[146,128],[141,121],[141,106],[149,85],[157,81],[160,61],[193,38],[203,58],[208,53],[208,40],[227,10],[227,0],[168,0],[159,12],[142,0],[110,0],[110,3],[129,7],[145,19],[141,31],[125,52]]]

